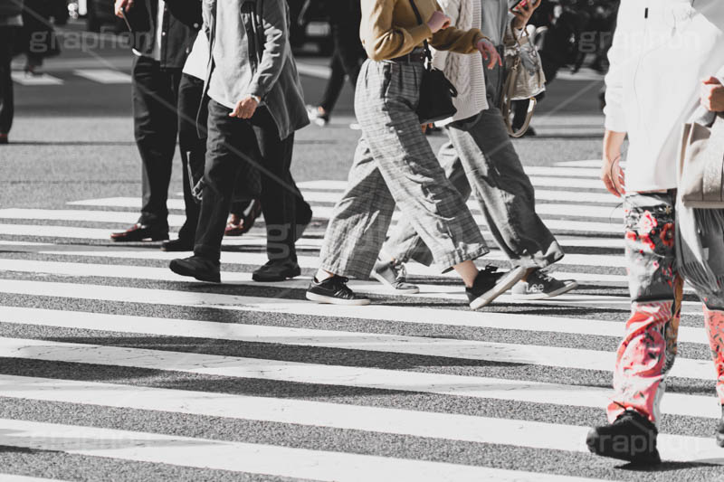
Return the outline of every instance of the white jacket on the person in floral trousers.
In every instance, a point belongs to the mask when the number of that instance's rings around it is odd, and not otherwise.
[[[724,75],[724,2],[622,0],[608,56],[605,127],[628,133],[626,190],[676,187],[700,81]]]

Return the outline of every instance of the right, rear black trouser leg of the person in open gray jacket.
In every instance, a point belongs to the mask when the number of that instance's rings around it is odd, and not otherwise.
[[[297,193],[291,179],[294,135],[281,139],[268,109],[258,109],[252,125],[262,154],[262,213],[270,260],[297,260],[294,248]]]

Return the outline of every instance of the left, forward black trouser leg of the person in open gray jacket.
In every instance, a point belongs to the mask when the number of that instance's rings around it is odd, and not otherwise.
[[[260,158],[252,125],[245,119],[230,118],[230,112],[213,99],[209,101],[205,187],[194,253],[210,260],[218,260],[221,254],[237,175],[240,171],[248,176],[258,175],[250,163]]]

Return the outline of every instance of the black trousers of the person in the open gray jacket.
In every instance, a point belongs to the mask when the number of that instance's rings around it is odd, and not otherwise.
[[[213,99],[209,101],[205,188],[194,253],[219,259],[236,180],[244,175],[247,184],[261,179],[267,256],[270,260],[296,260],[297,192],[289,170],[294,136],[280,139],[276,123],[264,107],[248,120],[230,118],[230,112]]]

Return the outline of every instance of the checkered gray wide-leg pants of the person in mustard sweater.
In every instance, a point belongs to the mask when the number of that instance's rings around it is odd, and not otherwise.
[[[443,269],[488,253],[480,228],[445,176],[415,113],[424,66],[366,61],[355,94],[362,128],[348,187],[329,221],[321,268],[366,279],[395,204]]]

